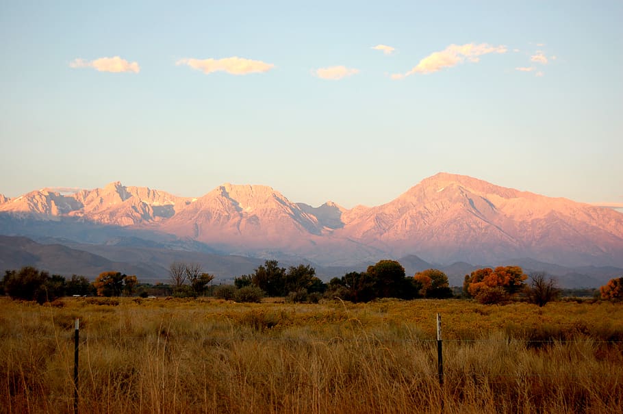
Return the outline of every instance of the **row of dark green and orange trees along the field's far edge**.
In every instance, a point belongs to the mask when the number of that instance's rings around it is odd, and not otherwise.
[[[381,260],[368,266],[365,272],[348,272],[334,277],[329,283],[316,276],[309,264],[282,268],[276,260],[266,260],[251,274],[234,279],[233,285],[212,286],[214,275],[203,272],[197,263],[175,261],[168,269],[169,284],[140,284],[135,275],[103,272],[90,282],[84,276],[70,279],[58,274],[25,266],[6,270],[0,282],[0,294],[15,299],[35,300],[38,303],[62,296],[148,296],[149,289],[177,297],[197,297],[209,294],[237,302],[259,302],[264,296],[284,297],[288,302],[318,302],[322,298],[369,302],[379,298],[457,297],[448,284],[448,277],[437,269],[407,276],[405,268],[395,260]],[[623,299],[623,277],[611,279],[600,287],[600,296],[607,300]],[[519,266],[481,268],[466,274],[459,297],[472,298],[483,304],[511,300],[527,300],[544,306],[561,294],[556,279],[542,272],[524,274]]]

